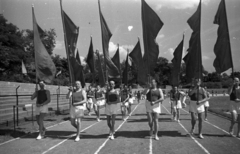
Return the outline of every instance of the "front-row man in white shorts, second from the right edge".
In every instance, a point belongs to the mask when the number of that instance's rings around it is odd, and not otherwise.
[[[199,138],[203,139],[202,136],[202,123],[203,123],[203,113],[204,113],[204,104],[209,98],[207,97],[207,93],[204,88],[201,86],[201,79],[195,78],[194,80],[194,87],[189,91],[190,97],[190,104],[189,104],[189,111],[191,113],[191,123],[192,129],[190,133],[194,134],[194,127],[196,124],[196,114],[198,116],[198,131],[199,131]]]

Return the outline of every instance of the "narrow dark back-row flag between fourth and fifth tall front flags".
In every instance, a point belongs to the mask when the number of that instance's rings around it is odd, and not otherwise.
[[[184,43],[184,35],[183,39],[180,44],[177,46],[173,53],[173,70],[172,70],[172,85],[178,86],[179,85],[179,73],[181,70],[181,63],[182,63],[182,53],[183,53],[183,43]]]

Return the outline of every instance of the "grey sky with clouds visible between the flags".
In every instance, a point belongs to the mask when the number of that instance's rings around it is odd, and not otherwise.
[[[157,13],[164,25],[159,31],[156,42],[159,56],[173,58],[173,52],[181,42],[183,33],[184,54],[188,49],[192,33],[187,20],[196,11],[199,0],[145,0]],[[225,0],[230,42],[235,71],[240,71],[240,0]],[[217,39],[218,25],[213,24],[220,0],[202,0],[201,47],[203,66],[208,72],[215,71],[213,52]],[[56,47],[53,51],[66,57],[63,26],[59,0],[0,0],[1,14],[17,27],[32,29],[31,7],[34,5],[35,16],[42,29],[55,29]],[[121,60],[126,58],[140,38],[142,42],[141,0],[100,0],[103,16],[113,36],[109,42],[110,56],[120,47]],[[62,0],[63,10],[79,26],[77,48],[81,59],[87,56],[90,37],[93,38],[94,50],[102,51],[98,0]]]

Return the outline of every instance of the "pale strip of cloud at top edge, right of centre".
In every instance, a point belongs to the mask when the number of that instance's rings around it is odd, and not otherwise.
[[[200,0],[162,0],[156,5],[156,10],[160,10],[163,7],[173,9],[191,9],[199,4]],[[208,5],[210,0],[202,0],[202,3]]]

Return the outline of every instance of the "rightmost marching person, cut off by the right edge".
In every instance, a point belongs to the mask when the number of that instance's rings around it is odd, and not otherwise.
[[[228,89],[228,94],[230,95],[230,106],[229,110],[231,112],[232,120],[229,128],[229,134],[233,136],[233,126],[238,122],[237,137],[240,138],[240,86],[239,78],[235,77],[232,86]]]

